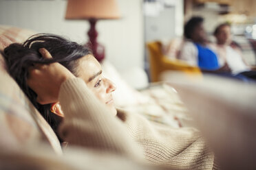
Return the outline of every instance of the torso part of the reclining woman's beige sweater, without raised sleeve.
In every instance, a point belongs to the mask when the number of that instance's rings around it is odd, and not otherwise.
[[[171,128],[120,110],[118,117],[140,145],[145,159],[167,169],[218,169],[214,155],[194,128]]]

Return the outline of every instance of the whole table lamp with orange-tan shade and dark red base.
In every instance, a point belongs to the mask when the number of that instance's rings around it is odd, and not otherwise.
[[[105,58],[105,48],[97,42],[96,22],[99,19],[119,19],[116,0],[68,0],[65,19],[88,20],[89,42],[95,58],[100,62]]]

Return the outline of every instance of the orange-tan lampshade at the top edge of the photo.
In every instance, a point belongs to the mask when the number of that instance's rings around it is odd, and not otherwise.
[[[65,19],[118,19],[116,0],[68,0]]]

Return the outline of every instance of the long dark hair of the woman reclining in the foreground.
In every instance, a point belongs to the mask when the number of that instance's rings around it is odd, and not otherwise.
[[[43,58],[41,53],[39,53],[40,48],[47,49],[51,53],[52,59]],[[54,132],[56,132],[58,124],[61,122],[61,117],[50,111],[51,104],[41,105],[36,102],[36,93],[34,93],[26,82],[28,68],[36,63],[50,64],[59,62],[77,76],[77,60],[83,56],[92,54],[91,50],[88,47],[78,45],[78,43],[61,36],[54,34],[35,34],[22,44],[11,44],[2,53],[10,75],[19,84],[25,95],[28,96],[45,120],[51,125]]]

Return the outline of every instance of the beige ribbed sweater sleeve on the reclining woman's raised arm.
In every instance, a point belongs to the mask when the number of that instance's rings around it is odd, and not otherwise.
[[[127,136],[125,126],[96,99],[83,80],[65,81],[58,100],[65,114],[58,131],[70,145],[142,158],[142,151]]]

